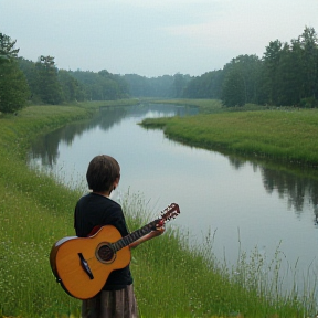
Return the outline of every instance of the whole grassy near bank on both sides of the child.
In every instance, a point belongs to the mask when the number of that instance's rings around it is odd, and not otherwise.
[[[73,210],[82,190],[29,170],[26,150],[36,135],[87,118],[98,106],[30,106],[0,117],[0,317],[80,317],[81,301],[55,283],[49,255],[56,240],[74,235]],[[178,127],[179,119],[171,120],[162,125],[172,127],[177,120]],[[123,199],[130,230],[157,214],[146,201],[135,193]],[[134,250],[140,317],[296,318],[316,312],[314,289],[283,293],[278,256],[265,266],[256,252],[251,259],[242,252],[237,266],[227,268],[213,255],[213,233],[203,246],[193,247],[189,237],[168,226],[165,235]]]

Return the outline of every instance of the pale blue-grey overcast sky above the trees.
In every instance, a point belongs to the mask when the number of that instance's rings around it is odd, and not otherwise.
[[[64,70],[199,76],[271,41],[318,32],[318,0],[0,0],[19,55]]]

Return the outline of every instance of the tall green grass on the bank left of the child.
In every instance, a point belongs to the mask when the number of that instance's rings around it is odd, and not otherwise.
[[[78,193],[30,171],[25,156],[35,135],[86,118],[89,112],[32,106],[0,119],[0,316],[54,317],[59,308],[65,312],[70,307],[64,295],[59,299],[53,292],[47,257],[56,236],[70,233],[70,211]]]

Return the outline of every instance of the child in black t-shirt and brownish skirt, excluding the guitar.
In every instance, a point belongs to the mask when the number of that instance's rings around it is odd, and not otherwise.
[[[82,197],[74,213],[76,235],[88,236],[95,226],[114,225],[121,236],[128,235],[121,206],[109,199],[119,183],[120,167],[110,156],[96,156],[88,165],[86,180],[93,191]],[[146,234],[129,245],[138,246],[152,237],[162,234],[165,229]],[[132,276],[129,265],[110,273],[100,293],[91,299],[83,300],[82,318],[136,318],[138,309],[132,288]]]

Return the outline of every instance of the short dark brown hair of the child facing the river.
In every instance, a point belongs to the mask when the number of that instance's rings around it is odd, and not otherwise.
[[[113,157],[100,155],[89,162],[86,180],[91,190],[95,192],[113,190],[112,186],[117,178],[120,178],[120,167]]]

